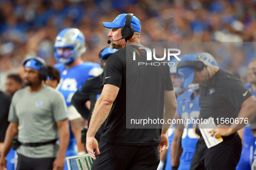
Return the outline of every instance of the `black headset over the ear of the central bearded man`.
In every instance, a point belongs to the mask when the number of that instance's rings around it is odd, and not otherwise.
[[[133,18],[134,14],[132,13],[128,13],[126,15],[126,20],[125,20],[125,24],[123,25],[122,27],[122,30],[121,30],[121,34],[122,36],[127,36],[125,38],[125,41],[127,42],[130,38],[133,37],[133,33],[134,33],[134,30],[133,30],[133,26],[131,25],[131,22],[132,22],[132,18]]]

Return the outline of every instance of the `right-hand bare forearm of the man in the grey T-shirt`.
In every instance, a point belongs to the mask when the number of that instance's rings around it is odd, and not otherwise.
[[[66,155],[66,151],[68,149],[68,143],[69,143],[69,138],[70,138],[68,120],[67,120],[67,123],[63,123],[63,125],[58,130],[59,130],[58,157],[64,158]]]

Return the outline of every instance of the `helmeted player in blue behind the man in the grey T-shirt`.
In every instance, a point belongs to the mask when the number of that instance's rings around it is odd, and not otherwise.
[[[83,62],[81,55],[85,52],[85,38],[77,28],[66,28],[62,30],[55,40],[55,60],[58,64],[55,68],[60,71],[61,80],[57,86],[68,106],[68,119],[71,125],[71,139],[66,156],[84,154],[84,144],[81,142],[81,129],[84,126],[84,119],[81,114],[71,105],[72,96],[81,88],[83,83],[91,77],[102,73],[100,65],[91,62]],[[75,138],[74,138],[75,137]],[[78,153],[74,150],[75,144]],[[65,169],[66,169],[65,165]]]

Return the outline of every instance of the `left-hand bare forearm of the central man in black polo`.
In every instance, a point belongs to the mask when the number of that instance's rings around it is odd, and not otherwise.
[[[86,136],[92,136],[96,134],[102,123],[107,119],[107,116],[111,110],[113,103],[98,99],[95,104],[94,111],[91,116],[90,125]]]

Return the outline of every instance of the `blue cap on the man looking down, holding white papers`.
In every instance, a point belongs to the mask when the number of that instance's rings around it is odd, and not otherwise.
[[[194,54],[188,54],[181,58],[181,61],[178,63],[181,63],[183,61],[195,61],[197,60],[197,56]],[[181,77],[181,84],[182,88],[187,88],[188,85],[192,84],[194,80],[194,68],[193,66],[185,66],[181,67],[178,70],[178,74]]]

